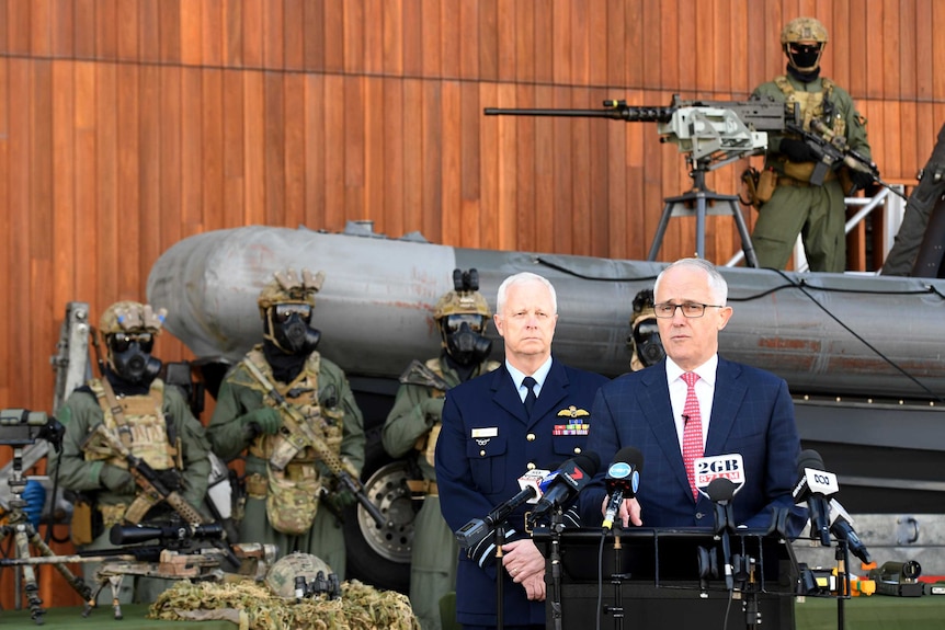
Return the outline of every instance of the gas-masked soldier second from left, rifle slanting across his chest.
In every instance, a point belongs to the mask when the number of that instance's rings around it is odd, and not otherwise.
[[[361,410],[344,371],[316,351],[320,333],[311,323],[315,294],[323,280],[321,273],[286,270],[263,286],[258,299],[263,342],[227,374],[207,434],[225,460],[247,451],[246,506],[237,515],[242,517],[240,540],[277,545],[280,557],[311,553],[344,580],[340,514],[354,495],[338,488],[316,449],[289,446],[297,436],[289,435],[276,401],[294,408],[310,435],[340,458],[352,478],[360,477],[365,443]]]

